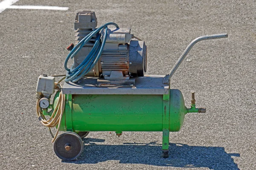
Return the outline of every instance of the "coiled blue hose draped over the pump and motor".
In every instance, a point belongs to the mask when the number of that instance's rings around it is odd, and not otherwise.
[[[109,25],[113,25],[116,28],[119,28],[119,26],[116,23],[106,23],[106,24],[100,26],[99,28],[97,28],[96,30],[90,32],[90,34],[88,34],[86,37],[84,37],[70,51],[70,54],[68,54],[68,56],[64,62],[64,68],[67,70],[65,82],[70,82],[70,81],[77,82],[79,79],[84,77],[84,75],[87,74],[94,67],[94,65],[96,65],[96,63],[98,62],[98,60],[102,54],[103,48],[105,46]],[[100,40],[100,37],[101,37],[100,31],[102,29],[105,29],[105,34],[104,34],[103,40],[101,41]],[[96,41],[95,41],[90,53],[85,57],[84,61],[81,62],[81,64],[79,64],[76,68],[74,68],[74,63],[70,68],[68,68],[67,62],[69,61],[69,59],[72,59],[81,50],[81,48],[83,48],[83,46],[95,35],[96,35]]]

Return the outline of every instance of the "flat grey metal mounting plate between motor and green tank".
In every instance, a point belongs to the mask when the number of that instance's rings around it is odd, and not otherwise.
[[[169,94],[169,84],[163,84],[163,75],[137,77],[135,87],[98,87],[96,77],[87,77],[78,82],[65,82],[64,94]]]

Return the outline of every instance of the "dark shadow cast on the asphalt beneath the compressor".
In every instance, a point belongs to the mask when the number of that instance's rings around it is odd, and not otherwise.
[[[239,153],[226,153],[224,147],[189,146],[170,143],[169,158],[163,159],[162,147],[156,142],[124,143],[121,145],[95,144],[104,139],[86,138],[84,151],[76,164],[96,164],[102,161],[117,160],[121,164],[148,164],[169,167],[208,167],[214,170],[239,170],[231,156]]]

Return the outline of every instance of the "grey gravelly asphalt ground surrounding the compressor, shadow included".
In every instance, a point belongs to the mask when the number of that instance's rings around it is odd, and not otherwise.
[[[0,13],[0,169],[256,170],[255,0],[20,0],[14,5],[65,6],[67,11],[6,9]],[[76,11],[96,12],[98,26],[131,28],[148,46],[147,74],[166,74],[191,40],[199,42],[172,77],[186,106],[196,92],[207,113],[186,115],[170,133],[170,157],[161,158],[162,133],[92,132],[76,161],[55,156],[35,114],[40,74],[64,74],[65,48],[74,42]],[[190,61],[191,60],[191,61]]]

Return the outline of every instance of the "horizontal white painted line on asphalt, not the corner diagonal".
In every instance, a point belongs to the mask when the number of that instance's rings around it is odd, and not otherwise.
[[[59,7],[59,6],[8,6],[9,9],[45,9],[45,10],[61,10],[67,11],[68,7]]]

